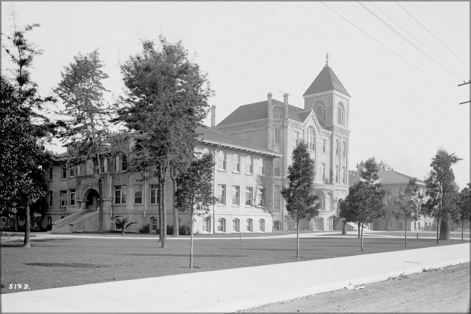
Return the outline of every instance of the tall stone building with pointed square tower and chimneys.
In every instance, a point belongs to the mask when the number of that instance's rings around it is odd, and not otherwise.
[[[328,56],[327,56],[328,57]],[[227,134],[280,154],[274,161],[275,200],[274,229],[288,228],[287,212],[281,188],[287,184],[287,169],[292,150],[304,139],[316,161],[314,193],[322,207],[316,219],[301,221],[301,229],[332,230],[338,201],[349,187],[349,100],[350,95],[327,62],[303,94],[304,107],[290,105],[288,94],[283,101],[267,99],[241,105],[217,126]],[[214,116],[214,106],[213,106]]]

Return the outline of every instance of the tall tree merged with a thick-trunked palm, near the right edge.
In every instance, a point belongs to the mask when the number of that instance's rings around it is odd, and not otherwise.
[[[425,194],[428,196],[423,206],[424,213],[437,219],[437,244],[439,240],[450,240],[449,220],[455,211],[456,184],[451,167],[461,158],[440,148],[430,163],[429,176],[425,179]],[[440,224],[440,219],[441,224]]]

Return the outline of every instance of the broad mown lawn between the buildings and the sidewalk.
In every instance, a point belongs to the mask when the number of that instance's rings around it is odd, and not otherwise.
[[[118,234],[116,234],[118,235]],[[270,235],[270,234],[267,234]],[[28,284],[29,290],[66,287],[114,280],[139,279],[227,268],[288,263],[310,259],[405,250],[402,239],[367,238],[365,251],[357,238],[300,239],[301,258],[295,258],[296,239],[196,239],[194,266],[189,269],[189,241],[169,239],[167,248],[151,239],[41,239],[31,248],[21,241],[2,243],[1,293],[10,283]],[[469,241],[466,241],[469,242]],[[440,241],[439,245],[462,243]],[[410,239],[407,249],[436,246],[434,240]]]

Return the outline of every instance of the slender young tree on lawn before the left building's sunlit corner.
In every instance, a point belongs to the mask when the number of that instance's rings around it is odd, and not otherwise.
[[[204,153],[194,157],[185,172],[177,177],[178,189],[175,194],[177,209],[191,217],[190,269],[193,268],[193,233],[196,216],[208,214],[210,206],[218,201],[213,196],[212,175],[214,155]]]

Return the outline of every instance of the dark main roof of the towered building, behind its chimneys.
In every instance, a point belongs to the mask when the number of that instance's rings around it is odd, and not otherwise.
[[[283,102],[276,99],[272,100],[272,104],[279,105],[281,107],[284,106]],[[298,121],[298,122],[304,122],[304,120],[306,120],[307,115],[306,117],[303,118],[304,115],[300,116],[299,113],[305,112],[305,111],[306,110],[302,108],[288,105],[288,119]],[[268,100],[265,100],[265,101],[260,101],[258,103],[239,106],[231,114],[229,114],[226,117],[226,119],[219,122],[217,126],[220,127],[220,126],[225,126],[225,125],[230,125],[230,124],[244,123],[248,121],[256,121],[256,120],[267,119],[267,118],[268,118]]]

